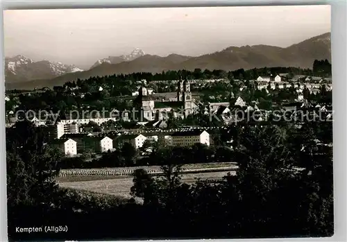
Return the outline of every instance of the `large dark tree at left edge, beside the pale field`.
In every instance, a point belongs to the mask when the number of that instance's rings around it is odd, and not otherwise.
[[[61,195],[55,178],[63,156],[46,146],[47,135],[30,121],[19,121],[6,130],[9,211],[17,207],[46,206]],[[10,218],[10,216],[9,216]]]

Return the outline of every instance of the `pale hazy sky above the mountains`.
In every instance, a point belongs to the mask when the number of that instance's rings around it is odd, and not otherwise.
[[[89,68],[142,49],[198,56],[228,46],[287,47],[330,32],[330,6],[6,10],[5,55]]]

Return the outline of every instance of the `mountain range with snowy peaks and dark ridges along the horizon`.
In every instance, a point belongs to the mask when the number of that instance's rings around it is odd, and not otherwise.
[[[210,70],[223,69],[226,71],[260,67],[301,67],[312,69],[314,60],[327,59],[331,62],[330,37],[330,33],[325,33],[304,40],[298,44],[293,44],[287,48],[267,45],[230,46],[221,51],[197,57],[178,54],[161,57],[145,54],[144,51],[135,49],[130,55],[110,56],[109,58],[98,60],[86,71],[65,69],[65,73],[61,71],[62,74],[59,75],[58,71],[56,71],[54,73],[56,76],[54,76],[46,70],[40,73],[40,69],[36,69],[36,75],[33,75],[31,72],[25,75],[24,69],[21,75],[26,78],[22,79],[20,83],[19,79],[22,77],[18,78],[17,75],[14,75],[15,78],[13,76],[6,76],[6,89],[52,87],[54,85],[62,85],[67,81],[77,80],[78,78],[86,79],[90,78],[90,76],[129,74],[133,72],[158,73],[167,70],[194,70],[196,68]],[[28,62],[29,66],[31,65],[29,60],[24,60],[24,62]],[[6,70],[6,73],[8,73],[8,70]],[[36,76],[42,77],[41,80]],[[44,80],[42,80],[43,78]]]

